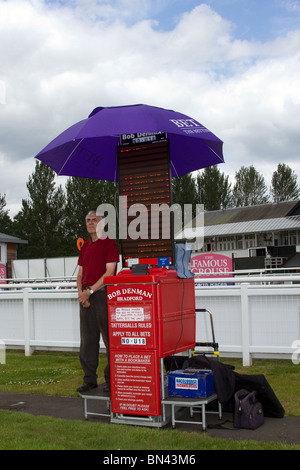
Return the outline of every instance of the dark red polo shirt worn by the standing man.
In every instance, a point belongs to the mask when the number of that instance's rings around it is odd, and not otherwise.
[[[117,242],[108,237],[99,238],[95,242],[90,238],[81,248],[78,265],[82,266],[82,285],[91,286],[106,271],[107,263],[119,262]]]

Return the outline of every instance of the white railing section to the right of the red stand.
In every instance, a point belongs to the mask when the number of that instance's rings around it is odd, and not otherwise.
[[[220,283],[220,279],[209,280]],[[216,341],[223,355],[292,357],[300,338],[300,277],[222,279],[227,286],[196,284],[196,307],[213,314]],[[208,318],[197,321],[196,337],[209,340]]]

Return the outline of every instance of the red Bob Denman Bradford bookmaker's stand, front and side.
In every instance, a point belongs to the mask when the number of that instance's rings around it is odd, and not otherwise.
[[[195,346],[191,281],[166,268],[106,278],[113,413],[161,415],[160,359]]]

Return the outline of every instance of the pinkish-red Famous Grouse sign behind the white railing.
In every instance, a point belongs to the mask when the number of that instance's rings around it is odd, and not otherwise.
[[[198,277],[231,277],[232,258],[216,253],[197,255],[191,259],[191,271]]]

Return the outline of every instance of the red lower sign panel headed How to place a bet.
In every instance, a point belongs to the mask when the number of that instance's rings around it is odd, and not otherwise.
[[[110,350],[113,413],[161,414],[159,360],[156,351]]]

